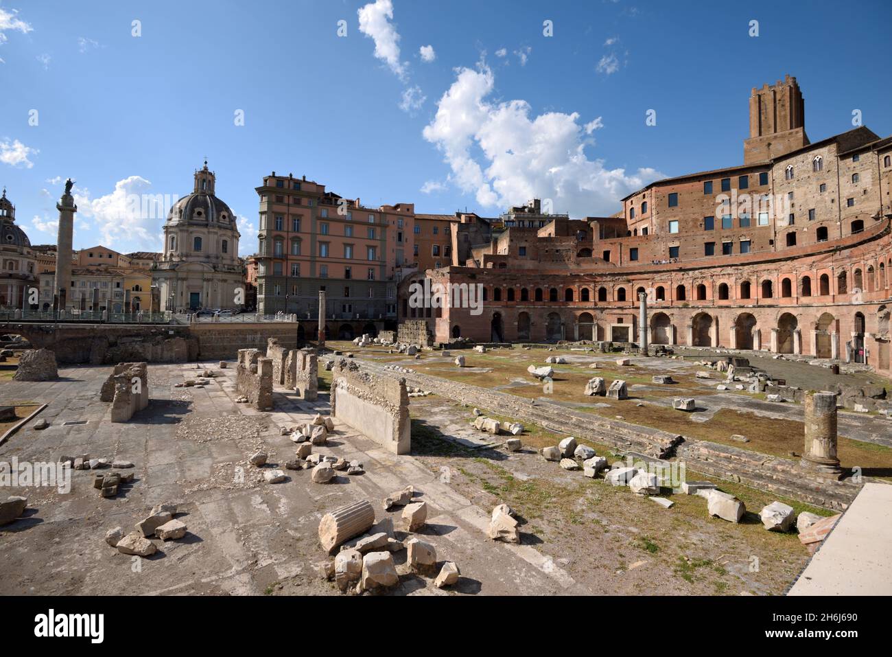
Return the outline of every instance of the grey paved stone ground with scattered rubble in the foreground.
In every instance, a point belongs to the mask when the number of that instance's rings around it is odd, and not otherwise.
[[[4,573],[14,574],[0,578],[0,595],[336,594],[314,568],[326,559],[318,545],[319,519],[343,503],[370,499],[377,520],[390,516],[399,527],[400,512],[383,511],[380,501],[408,484],[430,507],[425,540],[440,561],[458,563],[462,578],[451,588],[458,595],[780,593],[805,563],[795,536],[764,532],[752,517],[740,526],[710,520],[700,498],[665,511],[628,489],[560,470],[532,451],[461,451],[462,444],[484,441],[467,427],[467,410],[437,397],[413,399],[412,407],[428,428],[457,438],[458,453],[442,448],[455,443],[419,439],[411,455],[394,456],[335,423],[335,436],[315,451],[359,459],[364,475],[339,474],[317,485],[309,470],[287,470],[287,481],[268,485],[249,456],[263,447],[268,467],[293,458],[294,445],[278,428],[327,412],[326,395],[310,404],[279,391],[276,412],[257,412],[234,403],[232,367],[207,367],[221,375],[208,387],[177,388],[194,377],[194,363],[150,365],[150,406],[126,424],[111,424],[111,404],[99,401],[108,366],[63,368],[55,382],[2,384],[4,401],[48,403],[38,417],[51,427],[37,431],[29,423],[0,446],[0,460],[45,462],[90,453],[136,463],[136,480],[112,499],[100,497],[89,471],[71,472],[69,494],[45,487],[4,490],[27,495],[29,510],[0,528],[0,562]],[[444,468],[450,477],[443,477]],[[487,478],[520,487],[509,491],[506,485],[502,493]],[[522,545],[493,543],[484,535],[491,507],[514,493],[522,505],[539,509],[544,502],[545,515],[524,520]],[[147,560],[105,544],[106,530],[129,530],[155,503],[169,500],[184,511],[185,539],[156,541],[159,553]],[[677,513],[685,504],[699,506],[692,514]],[[642,547],[654,545],[648,536],[657,537],[657,552]],[[405,554],[394,555],[401,585],[392,593],[449,594],[411,574]],[[754,554],[764,564],[756,574],[747,571]]]

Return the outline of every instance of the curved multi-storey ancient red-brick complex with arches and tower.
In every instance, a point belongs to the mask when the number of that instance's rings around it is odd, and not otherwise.
[[[810,143],[789,76],[753,89],[749,118],[742,165],[651,183],[613,217],[505,221],[463,266],[428,270],[483,294],[483,312],[434,309],[435,340],[637,341],[643,293],[652,345],[838,358],[888,376],[892,137],[857,127]],[[403,309],[407,285],[400,296]]]

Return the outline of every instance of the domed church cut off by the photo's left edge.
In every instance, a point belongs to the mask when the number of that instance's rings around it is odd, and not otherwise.
[[[28,287],[38,287],[36,261],[25,231],[15,225],[15,205],[0,197],[0,308],[22,308]]]

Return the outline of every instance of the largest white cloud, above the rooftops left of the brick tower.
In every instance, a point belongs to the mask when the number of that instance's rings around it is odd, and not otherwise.
[[[627,174],[590,160],[583,152],[590,140],[577,113],[531,116],[524,100],[489,101],[494,85],[483,63],[477,70],[458,69],[423,133],[442,152],[450,179],[478,204],[506,208],[550,198],[556,212],[605,215],[616,211],[623,196],[663,176],[653,169]]]

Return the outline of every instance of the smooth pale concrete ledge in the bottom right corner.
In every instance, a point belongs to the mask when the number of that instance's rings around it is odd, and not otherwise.
[[[892,595],[892,486],[864,485],[788,595]]]

